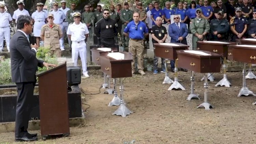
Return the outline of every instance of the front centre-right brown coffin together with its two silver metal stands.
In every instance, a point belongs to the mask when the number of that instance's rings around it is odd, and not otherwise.
[[[203,56],[198,54],[191,54],[186,53],[184,51],[177,51],[177,57],[179,59],[179,66],[184,69],[188,69],[192,71],[191,77],[194,77],[193,72],[198,73],[205,73],[204,76],[204,102],[200,104],[197,108],[204,107],[205,110],[210,110],[212,108],[212,105],[208,103],[208,95],[207,95],[207,89],[208,89],[208,80],[207,80],[207,73],[216,73],[220,72],[221,63],[220,58],[222,57],[219,54],[211,53],[208,51],[202,51],[207,54],[211,54],[211,56]],[[192,78],[191,78],[192,79]],[[194,94],[194,81],[191,80],[191,93],[192,96],[188,96],[188,100],[191,98],[198,98]],[[192,91],[193,90],[193,91]]]

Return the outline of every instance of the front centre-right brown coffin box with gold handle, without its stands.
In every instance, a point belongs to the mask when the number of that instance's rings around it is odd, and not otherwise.
[[[218,73],[221,71],[219,54],[209,51],[201,51],[211,56],[186,53],[186,51],[177,51],[178,67],[195,71],[198,73]]]

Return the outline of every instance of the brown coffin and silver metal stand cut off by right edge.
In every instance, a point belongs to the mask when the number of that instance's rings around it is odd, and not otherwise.
[[[244,62],[243,64],[243,84],[238,94],[240,96],[256,96],[252,91],[246,87],[245,80],[245,63],[256,63],[256,46],[254,45],[229,45],[229,48],[233,49],[233,60]]]

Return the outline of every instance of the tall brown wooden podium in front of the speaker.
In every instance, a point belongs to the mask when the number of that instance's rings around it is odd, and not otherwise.
[[[63,63],[37,74],[40,125],[43,140],[49,135],[69,135],[67,66]]]

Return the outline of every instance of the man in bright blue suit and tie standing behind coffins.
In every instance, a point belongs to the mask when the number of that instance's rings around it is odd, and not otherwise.
[[[179,15],[174,15],[173,20],[174,23],[169,25],[168,28],[168,33],[169,36],[171,37],[171,43],[182,43],[187,45],[187,40],[186,37],[188,35],[188,29],[187,25],[184,23],[180,23],[180,16]],[[172,72],[174,71],[174,63],[175,61],[171,61],[171,69]],[[187,71],[186,69],[181,69],[182,71]]]

